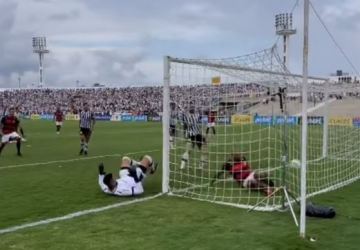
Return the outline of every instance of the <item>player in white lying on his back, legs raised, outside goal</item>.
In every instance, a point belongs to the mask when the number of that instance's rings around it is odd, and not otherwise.
[[[147,174],[155,173],[157,164],[152,157],[145,155],[140,162],[124,156],[119,171],[119,178],[112,173],[106,174],[104,165],[99,165],[99,186],[106,194],[117,196],[135,196],[144,193],[143,180]]]

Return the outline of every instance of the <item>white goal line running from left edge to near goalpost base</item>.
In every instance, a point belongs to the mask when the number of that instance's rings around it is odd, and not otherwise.
[[[163,193],[158,193],[156,195],[145,197],[145,198],[139,198],[139,199],[134,199],[134,200],[125,201],[125,202],[121,202],[121,203],[116,203],[116,204],[105,206],[105,207],[82,210],[82,211],[78,211],[78,212],[67,214],[67,215],[60,216],[60,217],[50,218],[50,219],[46,219],[46,220],[41,220],[41,221],[37,221],[37,222],[22,224],[22,225],[13,226],[13,227],[8,227],[8,228],[0,229],[0,235],[1,234],[6,234],[6,233],[16,232],[18,230],[22,230],[22,229],[25,229],[25,228],[36,227],[36,226],[40,226],[40,225],[47,225],[47,224],[57,222],[57,221],[70,220],[70,219],[73,219],[73,218],[76,218],[76,217],[80,217],[80,216],[84,216],[84,215],[88,215],[88,214],[99,213],[99,212],[103,212],[103,211],[113,209],[113,208],[117,208],[117,207],[128,206],[128,205],[131,205],[131,204],[152,200],[152,199],[157,198],[157,197],[159,197],[161,195],[163,195]]]

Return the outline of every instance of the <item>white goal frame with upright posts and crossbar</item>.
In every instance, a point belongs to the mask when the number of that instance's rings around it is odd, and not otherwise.
[[[221,63],[214,63],[214,62],[207,62],[205,60],[201,60],[201,59],[181,59],[181,58],[175,58],[175,57],[170,57],[170,56],[164,56],[163,58],[163,67],[164,67],[164,82],[163,82],[163,113],[162,113],[162,131],[163,131],[163,157],[162,157],[162,166],[163,166],[163,172],[162,172],[162,192],[163,193],[167,193],[167,194],[172,194],[171,193],[171,189],[169,186],[169,181],[170,181],[170,134],[169,134],[169,128],[170,128],[170,84],[171,84],[171,75],[170,75],[170,71],[171,71],[171,63],[183,63],[183,64],[190,64],[190,65],[197,65],[197,66],[203,66],[203,67],[210,67],[210,68],[226,68],[229,70],[239,70],[239,71],[243,71],[243,72],[249,72],[249,74],[251,73],[260,73],[260,74],[264,74],[265,76],[276,76],[276,77],[293,77],[296,78],[296,80],[298,82],[305,82],[306,81],[306,85],[308,84],[309,80],[313,80],[313,81],[323,81],[325,88],[325,114],[324,114],[324,125],[323,125],[323,148],[322,148],[322,156],[326,157],[327,155],[327,142],[328,142],[328,111],[327,111],[327,103],[328,103],[328,92],[327,92],[327,87],[328,87],[328,78],[321,78],[321,77],[312,77],[312,76],[308,76],[306,79],[303,79],[303,75],[298,75],[298,74],[291,74],[290,72],[288,72],[288,70],[286,68],[285,69],[285,73],[283,72],[276,72],[276,71],[269,71],[269,70],[261,70],[261,69],[256,69],[256,68],[250,68],[250,67],[243,67],[241,65],[224,65]],[[311,86],[309,86],[309,90],[311,89]],[[304,105],[304,100],[307,102],[307,93],[308,92],[308,88],[303,88],[302,89],[302,97],[303,97],[303,104]],[[306,106],[305,106],[306,107]],[[305,110],[305,111],[304,111]],[[307,135],[307,111],[306,109],[304,109],[303,106],[303,112],[302,112],[302,134],[301,134],[301,141],[302,141],[302,150],[301,150],[301,154],[302,154],[302,158],[301,159],[305,159],[302,160],[302,164],[301,164],[301,178],[300,178],[300,185],[301,185],[301,195],[299,197],[300,201],[301,201],[301,210],[305,211],[305,202],[306,202],[306,198],[307,198],[307,194],[306,194],[306,150],[304,152],[304,148],[306,149],[306,146],[303,147],[303,143],[304,141],[307,142],[308,140],[308,135]],[[305,128],[305,129],[304,129]],[[232,205],[229,203],[225,203],[225,202],[216,202],[216,203],[222,203],[222,204],[226,204],[226,205]],[[236,207],[242,207],[241,205],[236,205],[233,204]],[[301,212],[300,215],[304,213]],[[304,213],[305,214],[305,213]],[[305,220],[301,219],[302,216],[300,216],[300,228],[303,229],[304,225],[302,225],[302,223],[305,223]],[[302,230],[300,230],[300,235],[302,235]]]

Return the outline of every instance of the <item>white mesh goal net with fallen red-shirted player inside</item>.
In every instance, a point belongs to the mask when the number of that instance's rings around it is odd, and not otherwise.
[[[275,47],[235,58],[166,57],[164,69],[164,191],[257,210],[283,206],[282,188],[292,201],[299,197],[301,76],[287,71]],[[325,79],[311,81],[308,195],[345,185],[360,173],[356,114],[331,118],[336,91],[326,98]],[[246,158],[261,185],[224,169],[226,162],[238,163],[234,154]]]

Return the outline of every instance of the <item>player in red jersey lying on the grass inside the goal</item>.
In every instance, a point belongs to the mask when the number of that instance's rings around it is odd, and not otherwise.
[[[211,184],[214,184],[214,182],[225,173],[232,175],[234,180],[244,188],[261,191],[267,196],[272,195],[274,192],[273,181],[266,173],[252,170],[250,164],[242,154],[234,154],[225,162],[221,170],[214,176]]]

